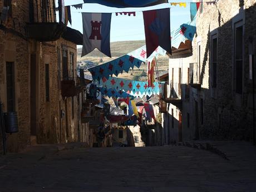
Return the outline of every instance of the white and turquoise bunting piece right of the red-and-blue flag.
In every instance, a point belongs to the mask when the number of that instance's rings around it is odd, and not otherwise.
[[[185,43],[187,39],[193,41],[195,32],[196,16],[194,17],[193,21],[181,24],[178,29],[171,32],[172,46],[178,49],[181,42]]]

